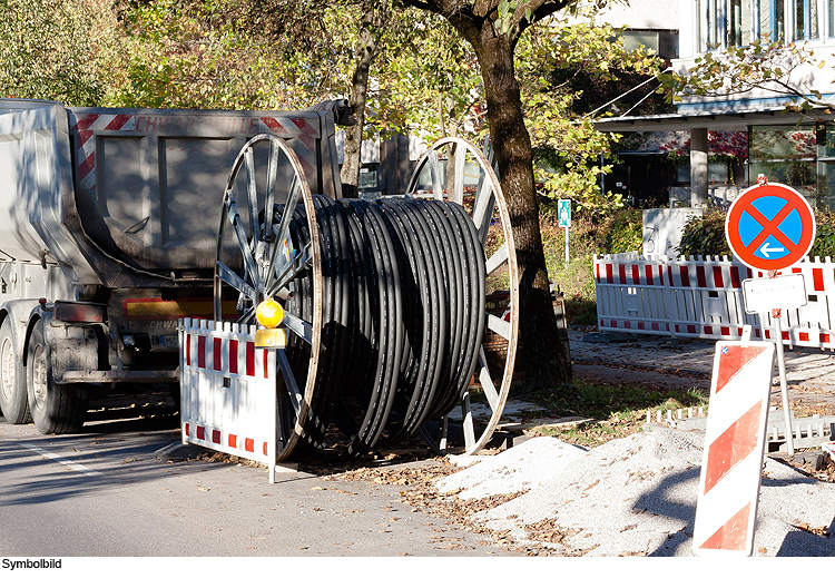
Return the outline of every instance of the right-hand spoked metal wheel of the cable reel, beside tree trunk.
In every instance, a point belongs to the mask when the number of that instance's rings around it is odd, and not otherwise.
[[[461,420],[464,447],[459,450],[472,454],[488,443],[501,419],[515,363],[519,316],[514,310],[519,307],[519,272],[510,214],[488,158],[472,143],[458,137],[441,139],[430,147],[418,163],[406,196],[461,204],[484,248],[488,295],[507,291],[509,321],[495,308],[485,308],[485,341],[479,350],[474,371],[479,390],[473,396],[464,389],[460,399],[461,414],[455,410],[448,416]],[[504,346],[507,353],[495,352],[497,347]],[[480,416],[484,409],[488,415]],[[452,450],[445,427],[431,424],[421,430],[424,440],[436,451]]]

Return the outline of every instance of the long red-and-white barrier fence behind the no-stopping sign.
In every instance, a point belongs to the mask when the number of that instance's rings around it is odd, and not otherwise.
[[[778,274],[802,274],[807,295],[806,306],[783,311],[784,343],[835,349],[835,263],[806,258]],[[766,275],[727,257],[595,256],[598,329],[739,340],[750,325],[754,339],[769,339],[770,316],[745,312],[741,283],[753,277]]]

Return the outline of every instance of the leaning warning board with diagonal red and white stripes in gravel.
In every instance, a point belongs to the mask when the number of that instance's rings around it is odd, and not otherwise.
[[[692,545],[699,555],[750,556],[775,346],[716,344]]]

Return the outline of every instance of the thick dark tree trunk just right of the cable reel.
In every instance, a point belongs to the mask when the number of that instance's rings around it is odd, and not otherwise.
[[[489,36],[473,47],[484,79],[490,138],[517,246],[520,274],[519,354],[528,383],[569,382],[571,364],[562,356],[539,227],[531,139],[513,68],[513,48],[504,36]]]

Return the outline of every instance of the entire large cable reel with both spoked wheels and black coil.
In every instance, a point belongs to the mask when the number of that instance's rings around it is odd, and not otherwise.
[[[446,197],[441,165],[458,169]],[[464,189],[465,169],[478,169],[474,192]],[[434,178],[429,198],[424,171]],[[312,195],[284,140],[249,140],[224,195],[215,320],[254,324],[271,297],[285,308],[278,460],[336,447],[355,458],[418,431],[436,451],[453,450],[445,425],[458,405],[463,447],[454,450],[484,447],[507,400],[518,331],[517,313],[504,321],[485,312],[485,283],[503,272],[518,307],[514,253],[495,174],[469,141],[435,144],[405,197],[365,202]],[[483,333],[507,342],[498,369]],[[487,419],[471,398],[473,373]]]

